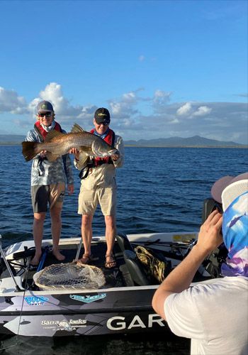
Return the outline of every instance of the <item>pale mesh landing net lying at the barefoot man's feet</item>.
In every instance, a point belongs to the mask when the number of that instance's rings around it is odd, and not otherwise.
[[[52,264],[35,273],[33,280],[42,290],[96,289],[106,283],[100,268],[82,263]]]

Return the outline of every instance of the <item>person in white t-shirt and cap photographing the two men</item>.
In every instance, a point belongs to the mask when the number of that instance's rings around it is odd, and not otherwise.
[[[154,293],[152,307],[174,334],[191,338],[191,354],[248,354],[248,173],[212,187],[222,204],[201,226],[198,241]],[[220,229],[222,227],[222,236]],[[203,260],[220,244],[228,251],[223,278],[195,283]]]

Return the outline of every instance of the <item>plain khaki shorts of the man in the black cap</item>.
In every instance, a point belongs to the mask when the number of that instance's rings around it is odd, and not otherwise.
[[[116,188],[102,187],[96,190],[86,190],[81,186],[78,213],[93,216],[98,204],[100,204],[103,216],[115,216]]]

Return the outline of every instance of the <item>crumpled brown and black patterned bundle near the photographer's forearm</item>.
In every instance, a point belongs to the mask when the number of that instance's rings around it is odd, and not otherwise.
[[[171,271],[171,261],[167,261],[166,258],[159,260],[157,256],[154,255],[153,251],[148,251],[144,246],[137,246],[135,248],[137,258],[145,266],[145,271],[147,275],[155,278],[159,283],[162,283],[164,278]]]

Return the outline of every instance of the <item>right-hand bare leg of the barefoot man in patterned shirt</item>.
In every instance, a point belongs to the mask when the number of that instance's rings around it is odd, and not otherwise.
[[[54,205],[50,209],[51,222],[52,222],[52,253],[57,258],[57,260],[64,260],[64,256],[60,253],[59,243],[60,243],[60,233],[61,233],[61,212],[62,207],[57,207]]]

